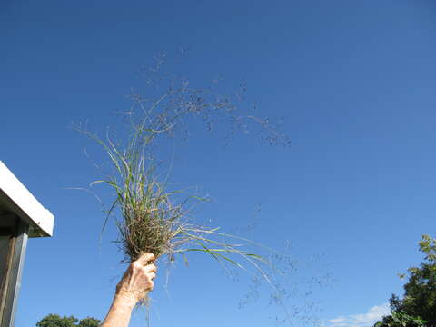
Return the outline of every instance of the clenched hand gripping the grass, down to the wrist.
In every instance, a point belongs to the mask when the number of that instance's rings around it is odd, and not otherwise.
[[[116,297],[130,302],[134,306],[144,299],[148,292],[154,288],[156,266],[154,254],[144,253],[138,260],[130,264],[124,276],[116,285]]]

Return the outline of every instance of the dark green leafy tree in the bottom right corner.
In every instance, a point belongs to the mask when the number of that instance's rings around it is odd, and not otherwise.
[[[436,239],[422,235],[419,246],[425,254],[424,261],[400,275],[401,278],[409,275],[403,286],[404,296],[401,299],[392,294],[391,315],[383,317],[375,327],[436,326]]]

